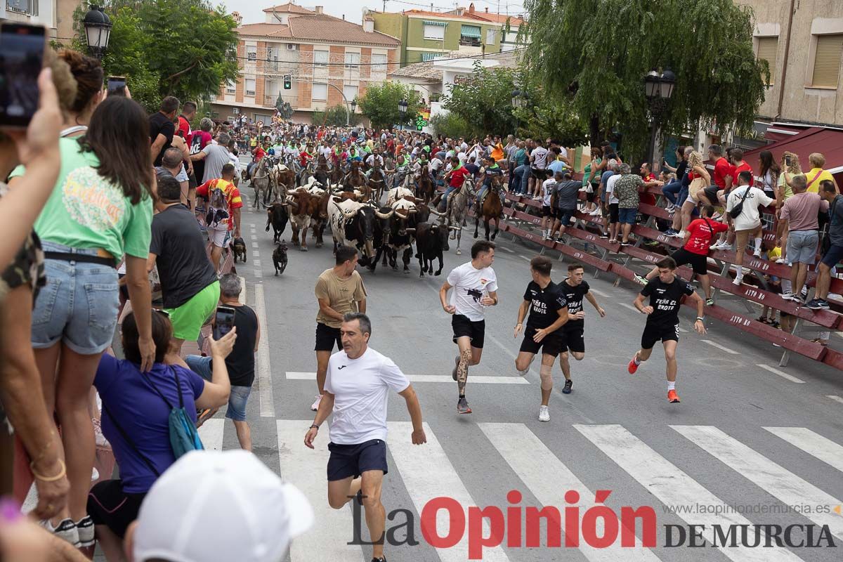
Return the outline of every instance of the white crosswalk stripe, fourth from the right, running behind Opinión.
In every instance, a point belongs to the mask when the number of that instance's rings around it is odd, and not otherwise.
[[[576,505],[581,508],[582,513],[594,505],[594,493],[588,490],[527,426],[498,423],[478,425],[513,472],[518,474],[518,478],[543,506],[555,506],[561,510],[562,506]],[[548,478],[548,474],[553,477]],[[569,504],[565,500],[567,490],[576,490],[579,493],[580,501],[577,504]],[[615,562],[620,559],[631,562],[658,562],[658,557],[650,549],[643,548],[638,537],[635,548],[621,548],[619,538],[605,549],[595,549],[580,539],[579,549],[591,562]]]

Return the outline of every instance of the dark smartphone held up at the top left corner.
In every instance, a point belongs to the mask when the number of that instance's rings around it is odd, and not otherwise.
[[[26,127],[38,110],[44,35],[40,25],[0,25],[0,126]]]

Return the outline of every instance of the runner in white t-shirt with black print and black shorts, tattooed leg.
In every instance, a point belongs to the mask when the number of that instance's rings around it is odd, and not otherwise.
[[[483,340],[486,334],[486,307],[497,304],[497,277],[491,269],[495,261],[495,244],[486,240],[471,246],[471,261],[460,265],[448,274],[448,279],[439,289],[439,302],[448,314],[453,314],[451,327],[454,329],[454,343],[459,346],[459,356],[454,359],[451,376],[457,381],[459,399],[457,413],[470,414],[465,399],[465,381],[469,366],[480,363]],[[448,302],[448,290],[453,288]]]

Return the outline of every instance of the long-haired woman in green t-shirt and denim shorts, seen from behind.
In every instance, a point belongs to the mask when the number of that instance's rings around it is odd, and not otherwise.
[[[85,136],[60,139],[59,153],[56,186],[35,221],[47,282],[35,301],[30,340],[47,411],[55,409],[62,426],[70,482],[67,507],[51,527],[90,545],[94,522],[86,505],[95,451],[89,393],[99,357],[114,337],[115,268],[124,255],[140,332],[139,367],[148,371],[155,359],[147,273],[154,185],[147,114],[132,99],[111,96],[94,111]],[[23,167],[13,171],[12,190],[23,174]]]

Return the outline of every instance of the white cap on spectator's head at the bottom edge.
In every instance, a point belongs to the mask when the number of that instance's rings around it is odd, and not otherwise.
[[[302,492],[251,452],[191,451],[144,498],[133,554],[136,562],[277,562],[313,522]]]

